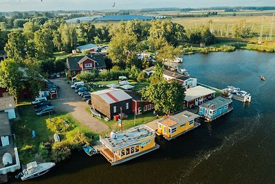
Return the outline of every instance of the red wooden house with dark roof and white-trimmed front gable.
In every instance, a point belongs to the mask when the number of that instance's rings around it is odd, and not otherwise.
[[[80,72],[104,69],[106,63],[103,54],[87,54],[80,57],[67,57],[67,68],[72,72],[72,76],[76,76]]]

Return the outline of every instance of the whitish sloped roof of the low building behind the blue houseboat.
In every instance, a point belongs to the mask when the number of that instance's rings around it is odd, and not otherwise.
[[[197,85],[194,88],[189,88],[186,90],[185,101],[192,101],[201,96],[206,96],[208,94],[215,93],[214,90],[210,90],[208,88],[204,88],[201,85]]]

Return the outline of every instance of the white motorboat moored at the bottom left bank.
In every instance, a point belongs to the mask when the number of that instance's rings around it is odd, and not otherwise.
[[[41,176],[48,172],[52,167],[56,165],[55,163],[39,163],[37,164],[36,161],[28,163],[25,170],[23,170],[17,178],[21,178],[22,181],[28,180],[30,178],[35,178],[37,176]]]

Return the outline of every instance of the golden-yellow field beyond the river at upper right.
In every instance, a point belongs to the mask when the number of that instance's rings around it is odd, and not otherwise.
[[[227,30],[230,34],[232,32],[232,25],[245,21],[246,25],[251,26],[252,32],[260,34],[261,25],[263,21],[263,35],[270,34],[270,25],[272,25],[272,14],[270,16],[249,16],[249,17],[176,17],[173,18],[173,22],[180,23],[184,25],[186,30],[197,28],[201,25],[210,26],[210,21],[212,21],[211,28],[214,30],[222,30],[225,35]],[[274,23],[275,24],[275,23]],[[275,27],[275,25],[274,25]],[[273,29],[273,34],[275,34],[275,28]]]

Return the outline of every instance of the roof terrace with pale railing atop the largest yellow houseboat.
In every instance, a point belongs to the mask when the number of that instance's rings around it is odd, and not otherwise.
[[[131,127],[124,132],[111,132],[109,136],[100,137],[100,142],[107,146],[110,150],[118,150],[129,145],[143,143],[144,138],[153,138],[155,131],[146,125]],[[147,139],[145,139],[147,140]]]

